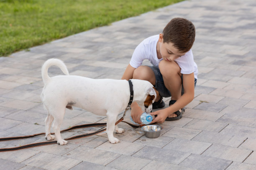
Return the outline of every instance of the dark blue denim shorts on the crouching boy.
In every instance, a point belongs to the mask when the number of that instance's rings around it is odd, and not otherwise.
[[[147,65],[148,66],[148,65]],[[156,68],[154,66],[148,66],[150,67],[156,77],[156,85],[155,88],[156,90],[159,92],[159,95],[161,95],[162,97],[171,97],[171,92],[165,87],[164,85],[164,80],[163,80],[163,76],[159,70],[159,68]],[[181,79],[183,78],[183,74],[181,76]],[[183,82],[183,81],[182,81]],[[197,84],[197,79],[195,78],[195,85]],[[182,83],[182,94],[184,94],[184,88],[183,88],[183,83]]]

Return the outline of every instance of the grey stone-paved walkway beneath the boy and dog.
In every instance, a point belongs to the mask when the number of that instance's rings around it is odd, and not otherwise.
[[[44,132],[47,113],[40,100],[44,61],[63,60],[71,75],[120,79],[135,47],[161,33],[175,17],[195,24],[192,50],[200,72],[195,99],[181,120],[162,124],[159,138],[146,138],[140,128],[120,123],[125,133],[115,134],[121,140],[118,144],[110,144],[101,133],[65,146],[0,153],[0,169],[255,170],[255,16],[255,0],[187,0],[0,57],[0,137]],[[50,76],[58,74],[57,67],[49,69]],[[61,128],[105,121],[84,110],[67,110]],[[73,130],[62,137],[95,130]],[[44,136],[0,142],[0,147],[41,141]]]

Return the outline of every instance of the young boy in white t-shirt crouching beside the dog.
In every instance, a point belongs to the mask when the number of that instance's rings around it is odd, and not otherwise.
[[[148,37],[134,50],[122,79],[151,82],[159,92],[153,109],[164,107],[162,98],[172,96],[169,107],[151,113],[156,115],[152,123],[179,120],[182,108],[193,100],[198,73],[191,50],[194,41],[195,26],[184,18],[174,18],[163,33]],[[153,66],[141,66],[145,59]],[[141,124],[142,113],[138,104],[133,102],[131,117],[135,122]]]

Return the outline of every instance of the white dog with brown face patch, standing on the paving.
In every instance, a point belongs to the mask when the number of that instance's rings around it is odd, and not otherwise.
[[[58,66],[65,75],[49,77],[50,66]],[[130,87],[127,80],[91,79],[76,75],[69,75],[66,65],[59,59],[49,59],[42,66],[44,89],[41,100],[48,116],[45,119],[46,139],[54,140],[50,134],[53,122],[54,133],[59,145],[67,144],[60,135],[60,126],[64,118],[66,107],[80,107],[96,115],[107,115],[107,135],[110,143],[120,142],[113,136],[113,131],[123,133],[122,128],[115,126],[118,114],[125,110],[130,99]],[[146,112],[151,112],[152,102],[156,99],[156,91],[150,82],[145,80],[131,80],[133,83],[133,101]]]

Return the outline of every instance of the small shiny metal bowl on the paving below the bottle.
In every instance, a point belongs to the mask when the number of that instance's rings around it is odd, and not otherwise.
[[[158,138],[163,130],[159,125],[145,125],[141,127],[147,138]]]

